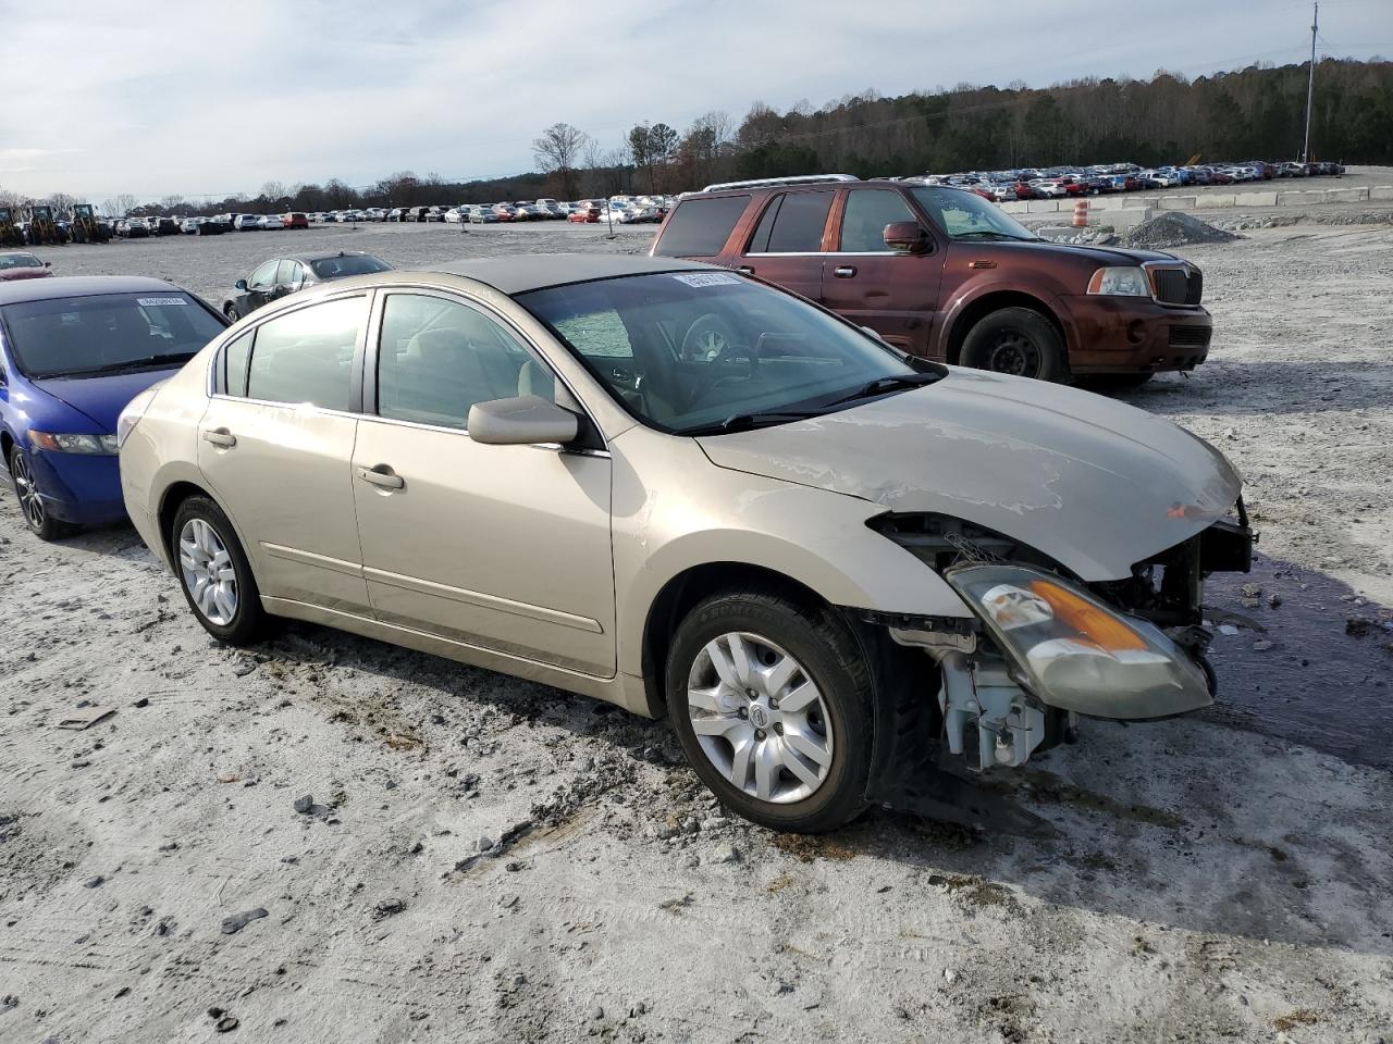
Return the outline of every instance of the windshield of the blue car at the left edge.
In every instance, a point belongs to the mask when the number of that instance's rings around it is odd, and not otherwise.
[[[187,362],[223,323],[181,291],[28,301],[0,309],[29,377],[93,376]]]

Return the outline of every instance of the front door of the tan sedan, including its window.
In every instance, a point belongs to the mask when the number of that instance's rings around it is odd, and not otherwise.
[[[482,306],[379,294],[352,490],[372,606],[386,624],[613,677],[610,458],[483,445],[469,406],[518,394],[581,411]]]

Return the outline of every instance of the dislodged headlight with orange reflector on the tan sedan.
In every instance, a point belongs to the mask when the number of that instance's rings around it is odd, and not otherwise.
[[[1155,625],[1018,565],[971,565],[944,579],[981,617],[1043,703],[1099,718],[1144,720],[1208,707],[1204,672]]]

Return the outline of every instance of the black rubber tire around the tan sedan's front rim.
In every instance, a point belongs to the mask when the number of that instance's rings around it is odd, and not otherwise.
[[[688,678],[706,644],[730,632],[758,635],[776,643],[800,665],[822,696],[825,735],[832,738],[826,775],[802,799],[761,800],[736,786],[702,749],[688,711]],[[797,675],[794,675],[797,677]],[[731,590],[695,606],[673,636],[666,665],[667,713],[696,775],[729,809],[770,830],[819,834],[837,830],[865,807],[873,729],[872,671],[855,636],[826,606],[807,606],[763,589]],[[741,715],[752,720],[752,715]],[[770,725],[770,729],[775,727]],[[783,732],[759,742],[781,749]],[[787,768],[776,773],[794,778]],[[748,775],[747,775],[748,778]]]

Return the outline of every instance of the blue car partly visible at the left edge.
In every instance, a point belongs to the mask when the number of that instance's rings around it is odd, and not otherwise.
[[[0,459],[43,540],[125,518],[116,419],[227,326],[171,283],[0,284]]]

